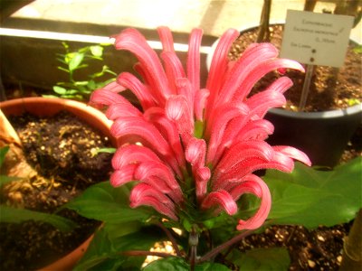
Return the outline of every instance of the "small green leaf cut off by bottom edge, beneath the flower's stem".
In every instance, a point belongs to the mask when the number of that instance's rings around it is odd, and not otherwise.
[[[145,266],[145,268],[143,268],[143,270],[144,271],[159,271],[159,270],[188,271],[190,270],[190,266],[186,263],[186,261],[183,258],[165,257],[149,263],[147,266]]]

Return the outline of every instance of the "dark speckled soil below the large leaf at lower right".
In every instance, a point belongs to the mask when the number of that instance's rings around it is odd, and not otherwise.
[[[241,251],[251,248],[287,248],[289,270],[338,270],[342,261],[343,239],[351,223],[335,227],[305,229],[302,226],[271,226],[262,234],[244,238]]]

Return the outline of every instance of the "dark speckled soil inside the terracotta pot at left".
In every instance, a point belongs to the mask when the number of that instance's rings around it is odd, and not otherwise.
[[[47,118],[25,114],[9,120],[20,135],[28,163],[46,180],[6,184],[2,204],[54,213],[91,184],[109,179],[111,154],[93,154],[98,147],[110,147],[109,139],[70,113]],[[49,264],[77,248],[99,226],[72,210],[57,214],[78,226],[62,232],[33,220],[0,223],[0,270],[33,270]]]

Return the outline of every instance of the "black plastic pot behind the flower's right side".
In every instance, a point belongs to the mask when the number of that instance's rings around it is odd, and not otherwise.
[[[362,104],[324,112],[271,109],[265,117],[274,125],[271,145],[291,145],[308,154],[312,164],[333,167],[362,123]]]

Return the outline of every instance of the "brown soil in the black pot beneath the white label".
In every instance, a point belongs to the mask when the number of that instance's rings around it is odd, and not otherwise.
[[[281,50],[282,30],[282,25],[270,27],[270,42],[279,50]],[[256,41],[256,37],[256,29],[242,33],[233,43],[229,58],[231,60],[239,58],[245,48]],[[349,44],[345,64],[339,70],[327,66],[316,66],[310,83],[310,93],[304,108],[305,111],[326,111],[349,107],[357,101],[362,102],[362,54],[354,51],[355,47],[355,44]],[[285,75],[294,82],[293,87],[287,90],[285,94],[288,100],[285,107],[291,111],[298,111],[304,73],[288,70]],[[271,81],[279,76],[281,75],[276,71],[267,74],[252,91],[265,89]]]

